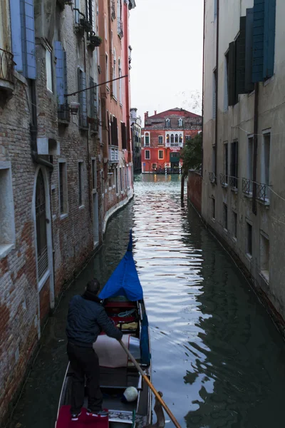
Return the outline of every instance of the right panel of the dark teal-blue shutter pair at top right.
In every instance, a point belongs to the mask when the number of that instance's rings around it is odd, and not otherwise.
[[[274,75],[276,0],[264,1],[264,79]]]

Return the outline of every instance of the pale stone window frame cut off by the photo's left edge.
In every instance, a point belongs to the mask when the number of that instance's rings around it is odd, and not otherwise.
[[[6,170],[6,173],[3,173],[3,170]],[[8,225],[6,238],[4,238],[4,233],[1,233],[1,236],[0,236],[0,259],[1,259],[1,258],[4,258],[13,248],[15,248],[15,243],[16,243],[11,162],[0,161],[0,176],[1,176],[0,183],[2,180],[4,181],[4,184],[6,182],[6,185],[5,185],[6,192],[4,192],[5,193],[4,201],[1,201],[1,207],[0,207],[0,221],[2,224],[5,223],[5,225]]]

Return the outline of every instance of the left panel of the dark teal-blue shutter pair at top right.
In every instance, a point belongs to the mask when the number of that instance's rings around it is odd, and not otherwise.
[[[264,64],[264,0],[254,0],[252,44],[252,81],[263,81]]]

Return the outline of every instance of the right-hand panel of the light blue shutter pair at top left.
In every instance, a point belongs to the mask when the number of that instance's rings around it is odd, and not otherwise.
[[[24,54],[26,54],[27,78],[36,78],[36,44],[35,44],[35,19],[33,15],[33,0],[24,1]]]

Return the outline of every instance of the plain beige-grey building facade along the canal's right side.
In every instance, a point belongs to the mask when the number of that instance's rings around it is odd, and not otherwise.
[[[202,216],[284,332],[285,4],[204,3]]]

